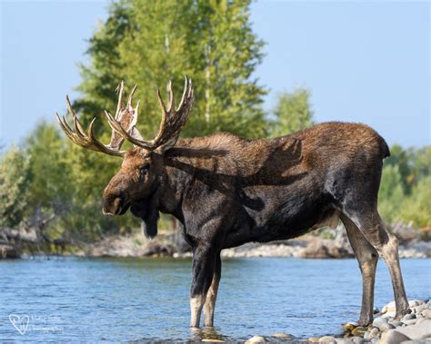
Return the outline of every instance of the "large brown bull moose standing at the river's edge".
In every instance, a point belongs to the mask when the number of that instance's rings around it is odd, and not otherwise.
[[[378,257],[390,272],[396,319],[410,312],[398,259],[398,241],[377,211],[385,140],[359,123],[320,123],[273,139],[247,140],[230,133],[179,139],[194,101],[192,81],[175,109],[172,84],[168,107],[160,90],[162,120],[155,138],[145,141],[136,128],[139,102],[135,88],[125,103],[118,90],[115,115],[105,111],[112,134],[105,145],[95,138],[95,119],[88,131],[66,97],[73,128],[57,120],[73,143],[123,158],[103,194],[103,213],[130,211],[157,234],[159,211],[183,224],[193,251],[190,327],[212,327],[222,261],[220,251],[246,242],[287,240],[341,220],[362,273],[360,325],[373,321]],[[122,151],[127,140],[134,147]]]

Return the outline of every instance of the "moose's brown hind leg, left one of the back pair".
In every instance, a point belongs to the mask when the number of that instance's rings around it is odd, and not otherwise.
[[[348,240],[355,252],[356,260],[362,274],[362,306],[361,315],[357,322],[361,326],[366,326],[373,322],[374,289],[378,253],[376,249],[366,241],[366,238],[353,221],[344,214],[341,214],[340,218],[346,227]]]

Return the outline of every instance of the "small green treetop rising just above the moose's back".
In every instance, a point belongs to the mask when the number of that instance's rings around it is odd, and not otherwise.
[[[272,123],[272,136],[281,136],[306,129],[314,124],[310,92],[297,88],[293,93],[278,95]]]

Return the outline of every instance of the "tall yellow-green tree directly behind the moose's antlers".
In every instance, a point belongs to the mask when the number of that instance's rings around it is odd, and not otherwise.
[[[178,103],[184,74],[188,74],[195,83],[195,103],[185,136],[216,131],[266,135],[261,108],[266,91],[253,77],[263,44],[251,30],[249,5],[248,0],[124,0],[111,5],[107,20],[89,40],[90,64],[81,66],[83,81],[77,88],[81,95],[74,108],[82,122],[88,125],[97,117],[95,133],[107,143],[110,129],[103,109],[115,111],[115,88],[125,80],[128,91],[139,85],[135,96],[142,100],[138,127],[151,138],[160,123],[156,87],[172,79]],[[166,96],[163,89],[162,94]],[[119,161],[68,144],[80,211],[98,213],[96,200]],[[102,231],[118,228],[112,220],[95,218],[102,223]],[[132,223],[127,218],[115,222]],[[76,218],[70,225],[85,223]]]

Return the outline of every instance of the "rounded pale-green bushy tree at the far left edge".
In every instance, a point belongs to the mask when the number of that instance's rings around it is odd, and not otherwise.
[[[29,185],[29,159],[25,152],[11,147],[0,159],[0,228],[22,223]]]

